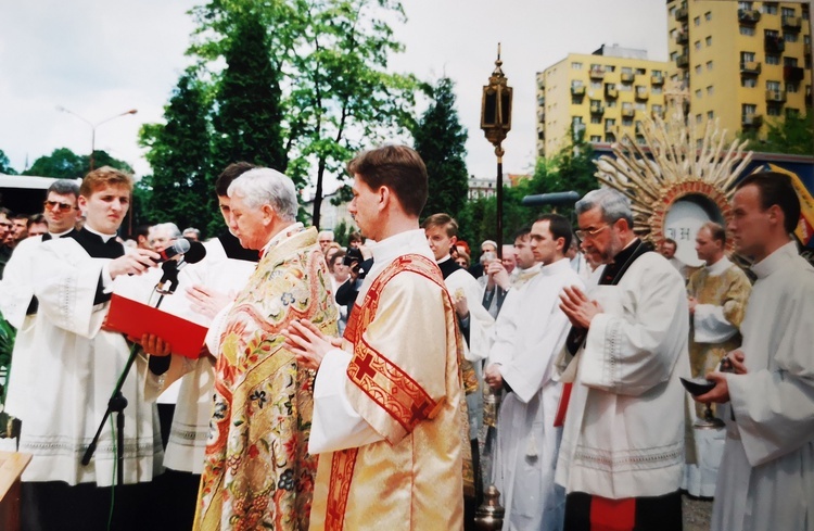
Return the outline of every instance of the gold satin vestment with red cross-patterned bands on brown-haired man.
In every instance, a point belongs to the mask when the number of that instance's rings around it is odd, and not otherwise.
[[[455,319],[441,271],[418,254],[387,265],[356,304],[345,391],[384,440],[320,455],[311,530],[462,529],[468,429]]]

